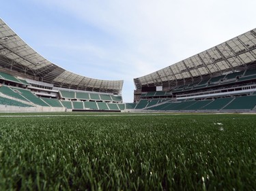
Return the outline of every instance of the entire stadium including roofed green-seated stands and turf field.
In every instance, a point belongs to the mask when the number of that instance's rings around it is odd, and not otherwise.
[[[255,190],[256,29],[123,84],[0,19],[0,190]]]

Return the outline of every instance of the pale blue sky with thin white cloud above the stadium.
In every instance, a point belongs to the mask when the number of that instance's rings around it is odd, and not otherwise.
[[[87,77],[124,80],[177,63],[256,27],[253,0],[12,0],[0,17],[52,63]]]

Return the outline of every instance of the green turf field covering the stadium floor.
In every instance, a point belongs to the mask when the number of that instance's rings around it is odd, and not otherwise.
[[[255,190],[255,115],[0,115],[0,190]]]

